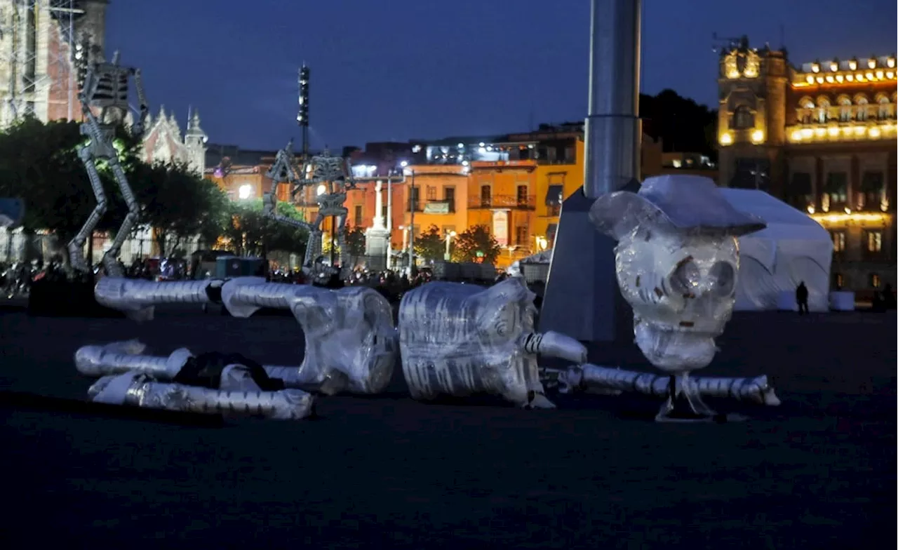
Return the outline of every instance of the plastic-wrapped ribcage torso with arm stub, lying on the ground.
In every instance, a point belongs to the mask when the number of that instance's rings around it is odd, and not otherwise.
[[[415,399],[500,395],[550,408],[536,355],[586,360],[584,346],[559,333],[536,333],[533,293],[520,279],[490,288],[433,282],[410,290],[400,306],[402,372]]]

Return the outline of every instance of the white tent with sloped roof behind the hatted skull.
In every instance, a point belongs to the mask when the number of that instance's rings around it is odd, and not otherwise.
[[[726,200],[746,214],[762,217],[767,228],[739,239],[736,311],[779,308],[779,297],[794,303],[805,281],[811,311],[829,311],[832,238],[826,229],[764,191],[721,189]]]

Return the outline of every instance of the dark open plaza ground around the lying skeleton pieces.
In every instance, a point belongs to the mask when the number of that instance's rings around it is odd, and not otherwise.
[[[295,322],[162,311],[151,324],[0,314],[0,389],[82,398],[75,349],[295,360]],[[656,424],[653,401],[559,410],[321,399],[321,419],[210,428],[0,406],[0,546],[888,548],[898,316],[737,316],[708,374],[762,372],[753,421]],[[718,404],[718,408],[724,408]]]

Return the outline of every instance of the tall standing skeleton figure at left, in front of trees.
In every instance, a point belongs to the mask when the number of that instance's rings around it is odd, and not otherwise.
[[[81,102],[81,111],[84,115],[81,133],[89,138],[89,141],[78,149],[78,156],[84,163],[84,168],[91,180],[93,195],[97,199],[97,206],[93,208],[91,216],[87,218],[81,231],[68,244],[72,267],[78,271],[91,271],[92,266],[84,258],[84,244],[93,235],[93,230],[100,223],[100,218],[106,213],[106,191],[103,190],[100,173],[97,172],[96,166],[96,161],[104,160],[109,164],[122,197],[128,205],[128,215],[125,216],[125,221],[119,227],[110,249],[103,254],[102,264],[107,274],[111,276],[121,277],[123,274],[118,262],[119,252],[125,239],[128,238],[137,223],[140,208],[137,205],[134,192],[131,191],[125,171],[119,164],[119,155],[113,142],[116,126],[128,116],[128,78],[132,75],[137,91],[137,101],[140,104],[140,119],[136,120],[131,132],[139,137],[144,133],[145,121],[149,115],[144,85],[140,69],[119,66],[118,52],[113,56],[111,63],[95,63],[88,69],[84,78],[84,86],[78,93],[78,101]],[[99,118],[94,114],[94,110],[100,111]]]

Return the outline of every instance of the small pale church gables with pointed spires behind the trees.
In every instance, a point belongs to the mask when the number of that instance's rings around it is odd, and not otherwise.
[[[180,135],[174,114],[159,108],[159,114],[149,120],[144,135],[144,160],[148,163],[183,163],[199,174],[206,173],[206,142],[208,137],[199,126],[199,112],[193,111],[184,136]]]

